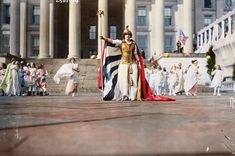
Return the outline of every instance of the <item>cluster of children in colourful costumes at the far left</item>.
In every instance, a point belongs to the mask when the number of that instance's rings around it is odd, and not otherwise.
[[[36,96],[48,95],[46,79],[48,72],[43,64],[16,61],[0,64],[1,96]]]

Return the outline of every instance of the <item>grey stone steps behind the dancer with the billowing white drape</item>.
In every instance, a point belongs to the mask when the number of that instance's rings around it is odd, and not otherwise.
[[[47,88],[50,95],[64,95],[66,80],[61,80],[60,84],[56,84],[53,80],[53,77],[56,71],[63,65],[64,63],[68,63],[66,59],[28,59],[27,62],[35,62],[36,65],[40,63],[44,64],[49,76],[47,78]],[[90,59],[81,59],[77,61],[80,73],[79,73],[79,87],[78,91],[80,93],[98,93],[100,92],[97,88],[97,79],[98,79],[98,60],[90,60]],[[146,62],[148,66],[151,65]],[[213,92],[212,88],[208,86],[200,85],[199,92]]]

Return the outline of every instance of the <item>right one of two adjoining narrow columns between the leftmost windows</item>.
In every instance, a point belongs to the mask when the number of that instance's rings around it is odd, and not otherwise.
[[[20,56],[22,58],[26,58],[26,9],[27,9],[27,2],[21,1],[20,3]]]

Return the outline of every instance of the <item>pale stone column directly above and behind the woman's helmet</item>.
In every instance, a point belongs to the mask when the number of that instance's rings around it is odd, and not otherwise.
[[[136,36],[136,0],[125,1],[125,27],[129,25],[129,29],[132,32],[132,38],[135,40]],[[124,28],[123,28],[124,30]]]

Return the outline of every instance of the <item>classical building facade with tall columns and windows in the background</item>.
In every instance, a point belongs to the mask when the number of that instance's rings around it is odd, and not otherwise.
[[[234,0],[0,0],[0,52],[23,58],[100,56],[99,35],[122,38],[126,25],[147,57],[185,53],[196,33],[235,7]],[[97,16],[98,10],[104,14]]]

